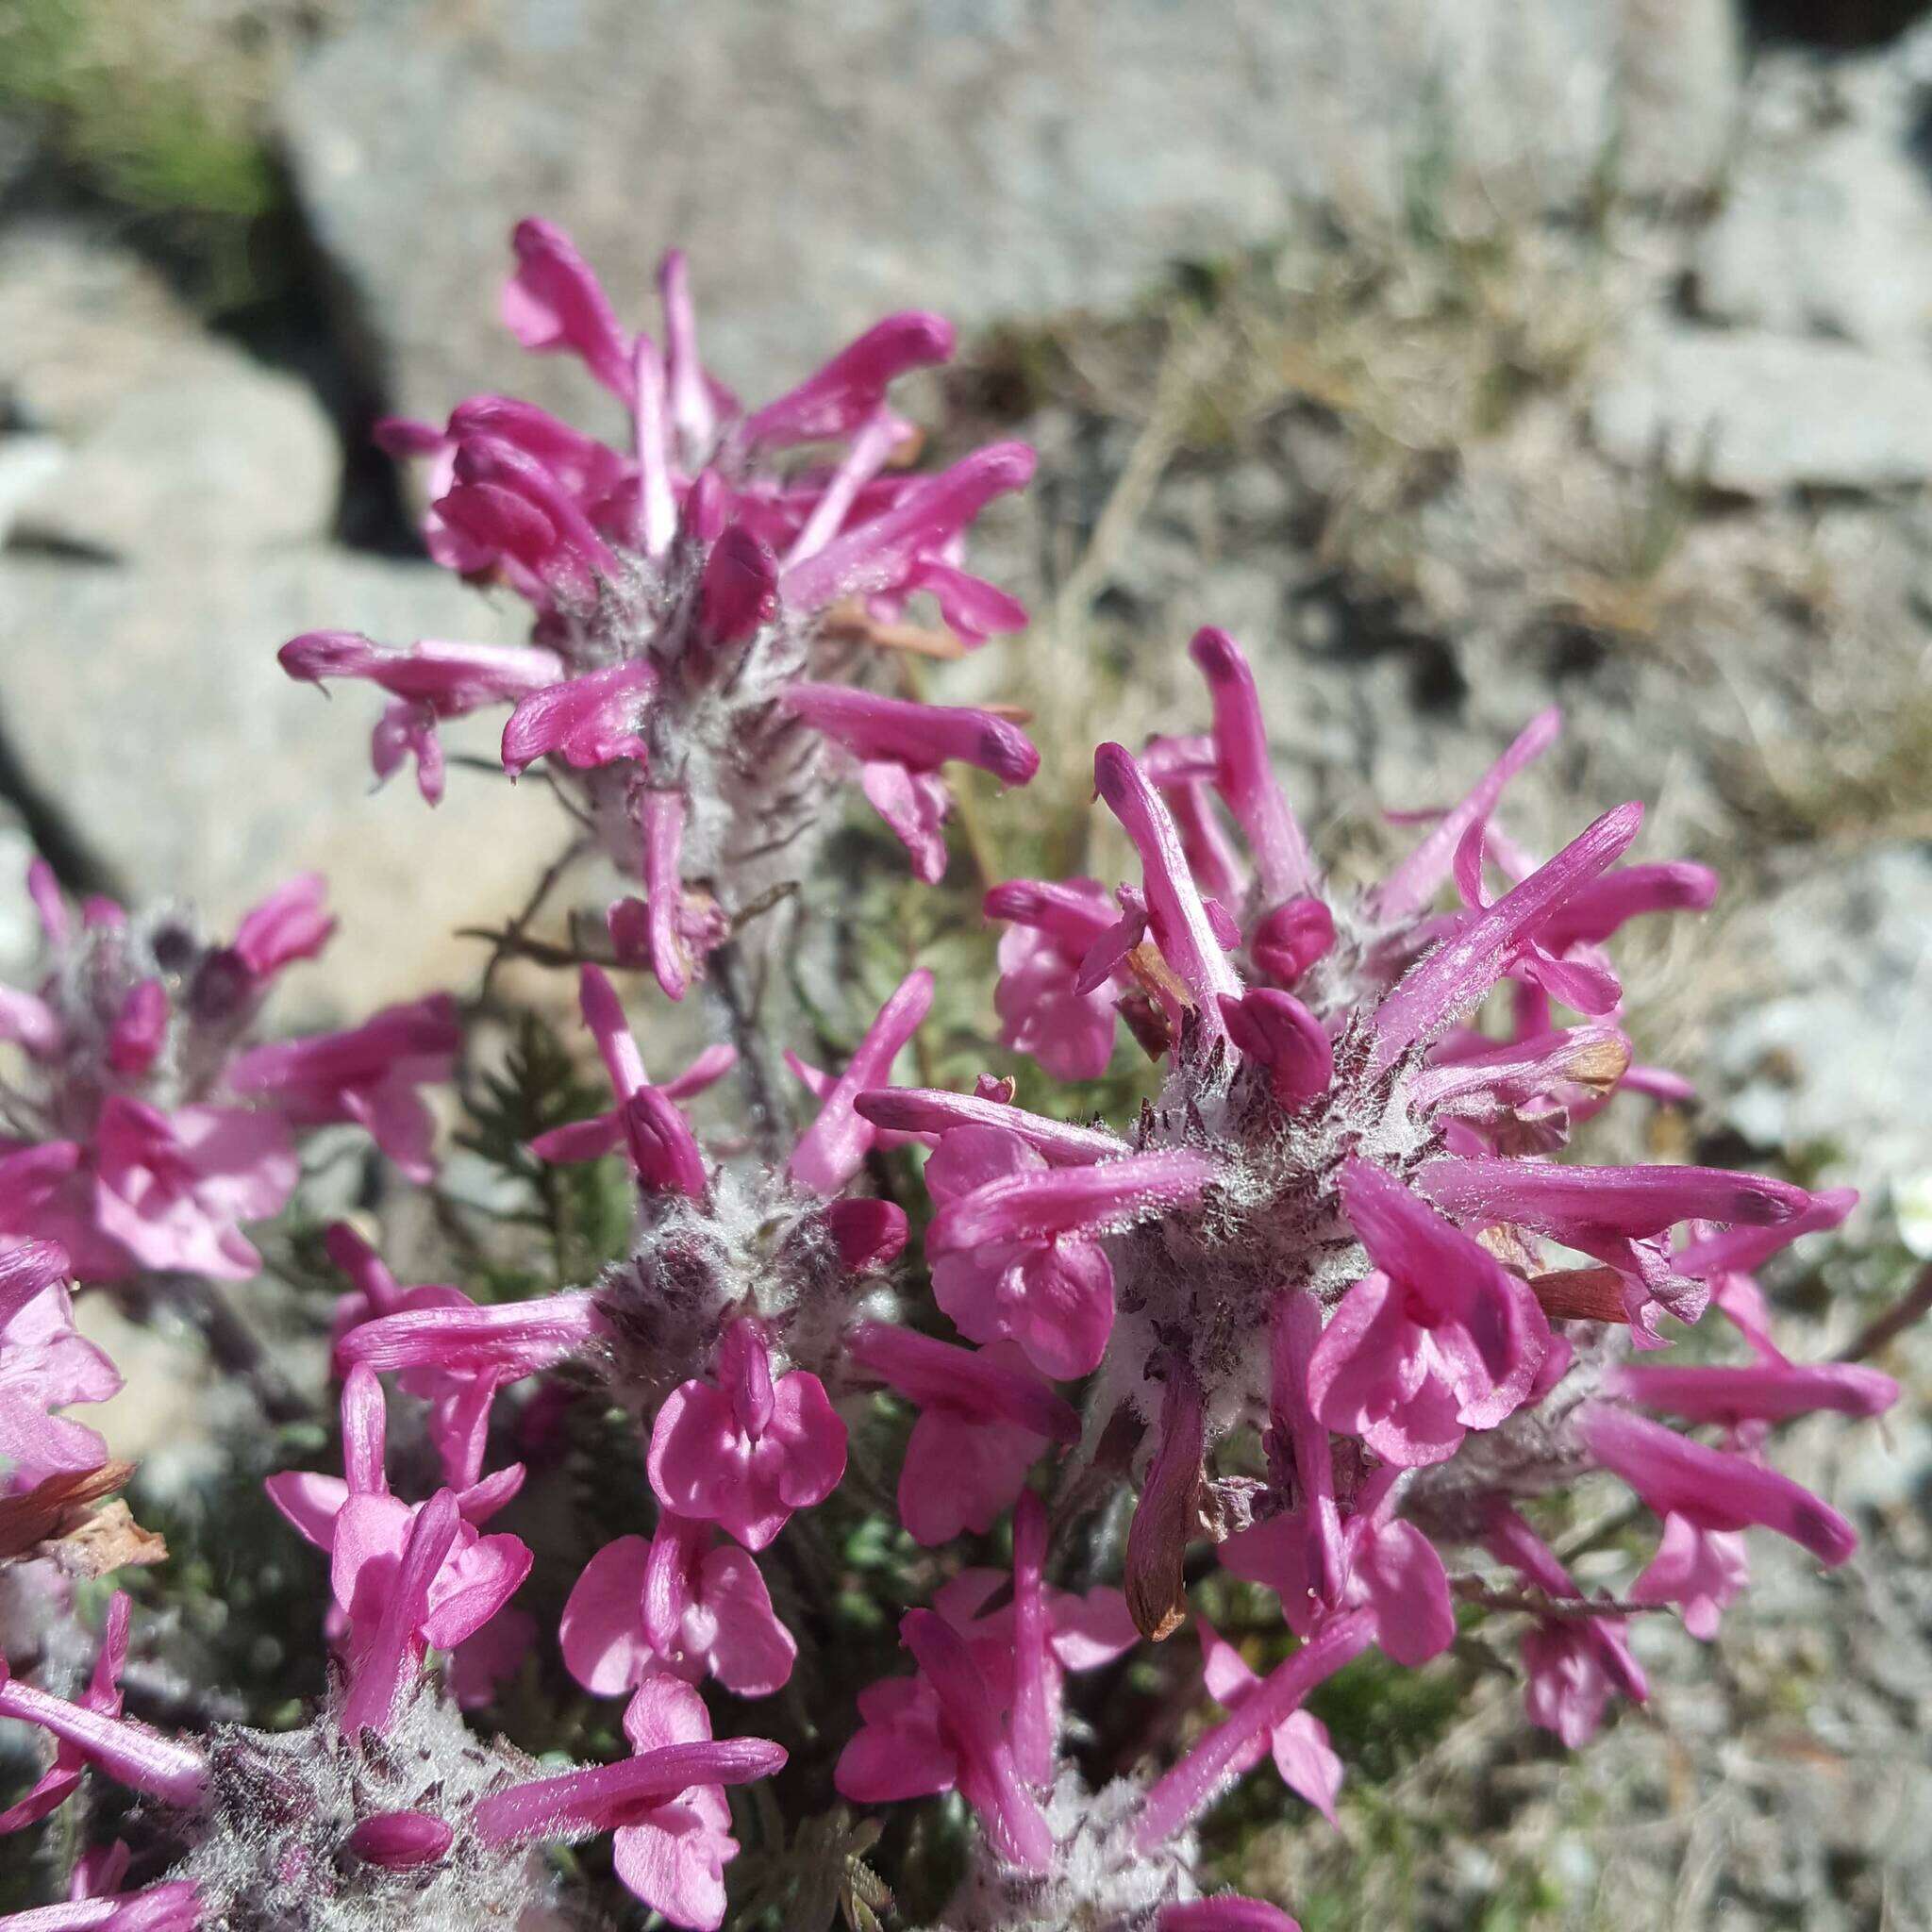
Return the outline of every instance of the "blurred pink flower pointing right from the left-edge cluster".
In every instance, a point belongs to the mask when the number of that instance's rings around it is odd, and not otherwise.
[[[412,1180],[431,1180],[437,1122],[417,1088],[446,1082],[460,1045],[456,1001],[431,993],[346,1034],[255,1047],[228,1068],[228,1084],[298,1126],[354,1121]]]

